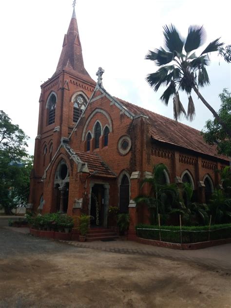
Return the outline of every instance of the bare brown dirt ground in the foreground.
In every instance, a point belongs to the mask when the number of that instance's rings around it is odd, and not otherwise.
[[[0,308],[231,307],[231,272],[0,229]]]

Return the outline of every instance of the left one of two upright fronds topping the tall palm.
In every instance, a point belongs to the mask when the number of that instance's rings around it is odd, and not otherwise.
[[[184,46],[183,40],[180,38],[179,32],[176,30],[173,24],[165,25],[164,27],[165,45],[170,52],[182,53]]]

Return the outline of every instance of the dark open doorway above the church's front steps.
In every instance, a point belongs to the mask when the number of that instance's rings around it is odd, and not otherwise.
[[[109,185],[90,183],[89,214],[91,215],[91,228],[108,225]]]

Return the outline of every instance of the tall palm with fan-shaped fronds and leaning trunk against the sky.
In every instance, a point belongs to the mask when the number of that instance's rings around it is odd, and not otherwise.
[[[164,26],[165,49],[160,47],[149,50],[146,59],[155,62],[159,69],[146,77],[149,85],[156,92],[161,85],[167,86],[160,99],[168,106],[169,99],[173,96],[173,114],[175,120],[186,116],[191,121],[195,116],[195,107],[191,96],[192,90],[197,94],[213,116],[222,125],[231,137],[231,130],[217,115],[212,106],[200,94],[199,87],[203,88],[210,84],[206,66],[210,64],[208,53],[218,51],[223,43],[219,39],[213,40],[197,56],[195,50],[203,45],[206,33],[203,26],[192,25],[189,27],[188,36],[183,39],[174,25]],[[187,93],[189,98],[188,111],[186,113],[180,98],[179,90]]]

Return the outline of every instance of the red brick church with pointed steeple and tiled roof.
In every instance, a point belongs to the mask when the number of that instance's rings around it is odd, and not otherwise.
[[[197,200],[206,203],[221,185],[214,171],[229,160],[199,131],[111,96],[102,74],[99,68],[96,83],[84,67],[74,9],[57,69],[41,85],[28,208],[85,212],[93,225],[107,227],[109,206],[118,206],[130,213],[132,238],[135,225],[149,221],[133,198],[154,164],[168,167],[167,183],[190,182]]]

